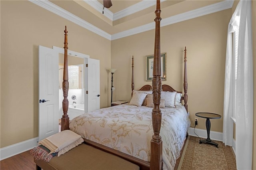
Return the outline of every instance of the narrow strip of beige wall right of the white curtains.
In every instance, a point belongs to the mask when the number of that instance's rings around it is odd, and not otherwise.
[[[254,56],[254,121],[253,121],[253,157],[252,169],[256,170],[256,1],[252,1],[252,40],[253,40],[253,56]]]

